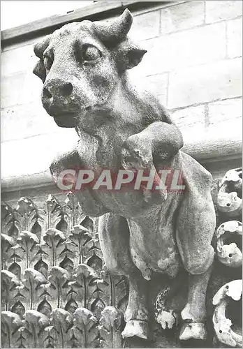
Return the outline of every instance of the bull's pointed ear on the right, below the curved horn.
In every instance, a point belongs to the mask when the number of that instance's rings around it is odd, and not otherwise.
[[[117,50],[117,64],[120,70],[131,69],[134,66],[138,66],[142,57],[147,52],[147,50],[142,50],[140,47],[127,39],[122,42]]]

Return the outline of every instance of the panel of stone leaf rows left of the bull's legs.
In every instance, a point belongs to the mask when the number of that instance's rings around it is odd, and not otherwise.
[[[103,271],[94,221],[73,193],[43,209],[3,204],[2,232],[4,348],[121,346],[127,281]]]

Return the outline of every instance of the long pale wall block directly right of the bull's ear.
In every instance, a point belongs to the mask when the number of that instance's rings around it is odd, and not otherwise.
[[[142,46],[147,54],[140,71],[144,70],[147,75],[206,64],[226,57],[226,24],[179,31],[145,40]]]

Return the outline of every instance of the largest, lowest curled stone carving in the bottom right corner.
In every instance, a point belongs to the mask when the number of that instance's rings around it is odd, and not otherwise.
[[[213,305],[216,306],[213,315],[214,331],[217,339],[226,346],[242,347],[242,336],[232,329],[232,321],[226,318],[226,306],[229,299],[240,301],[242,297],[242,280],[234,280],[223,285],[213,298]]]

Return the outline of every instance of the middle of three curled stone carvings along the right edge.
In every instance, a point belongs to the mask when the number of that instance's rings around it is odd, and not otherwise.
[[[242,265],[242,251],[235,242],[224,244],[227,240],[242,236],[242,223],[239,221],[228,221],[219,225],[216,230],[216,255],[223,265],[228,267],[240,267]]]

